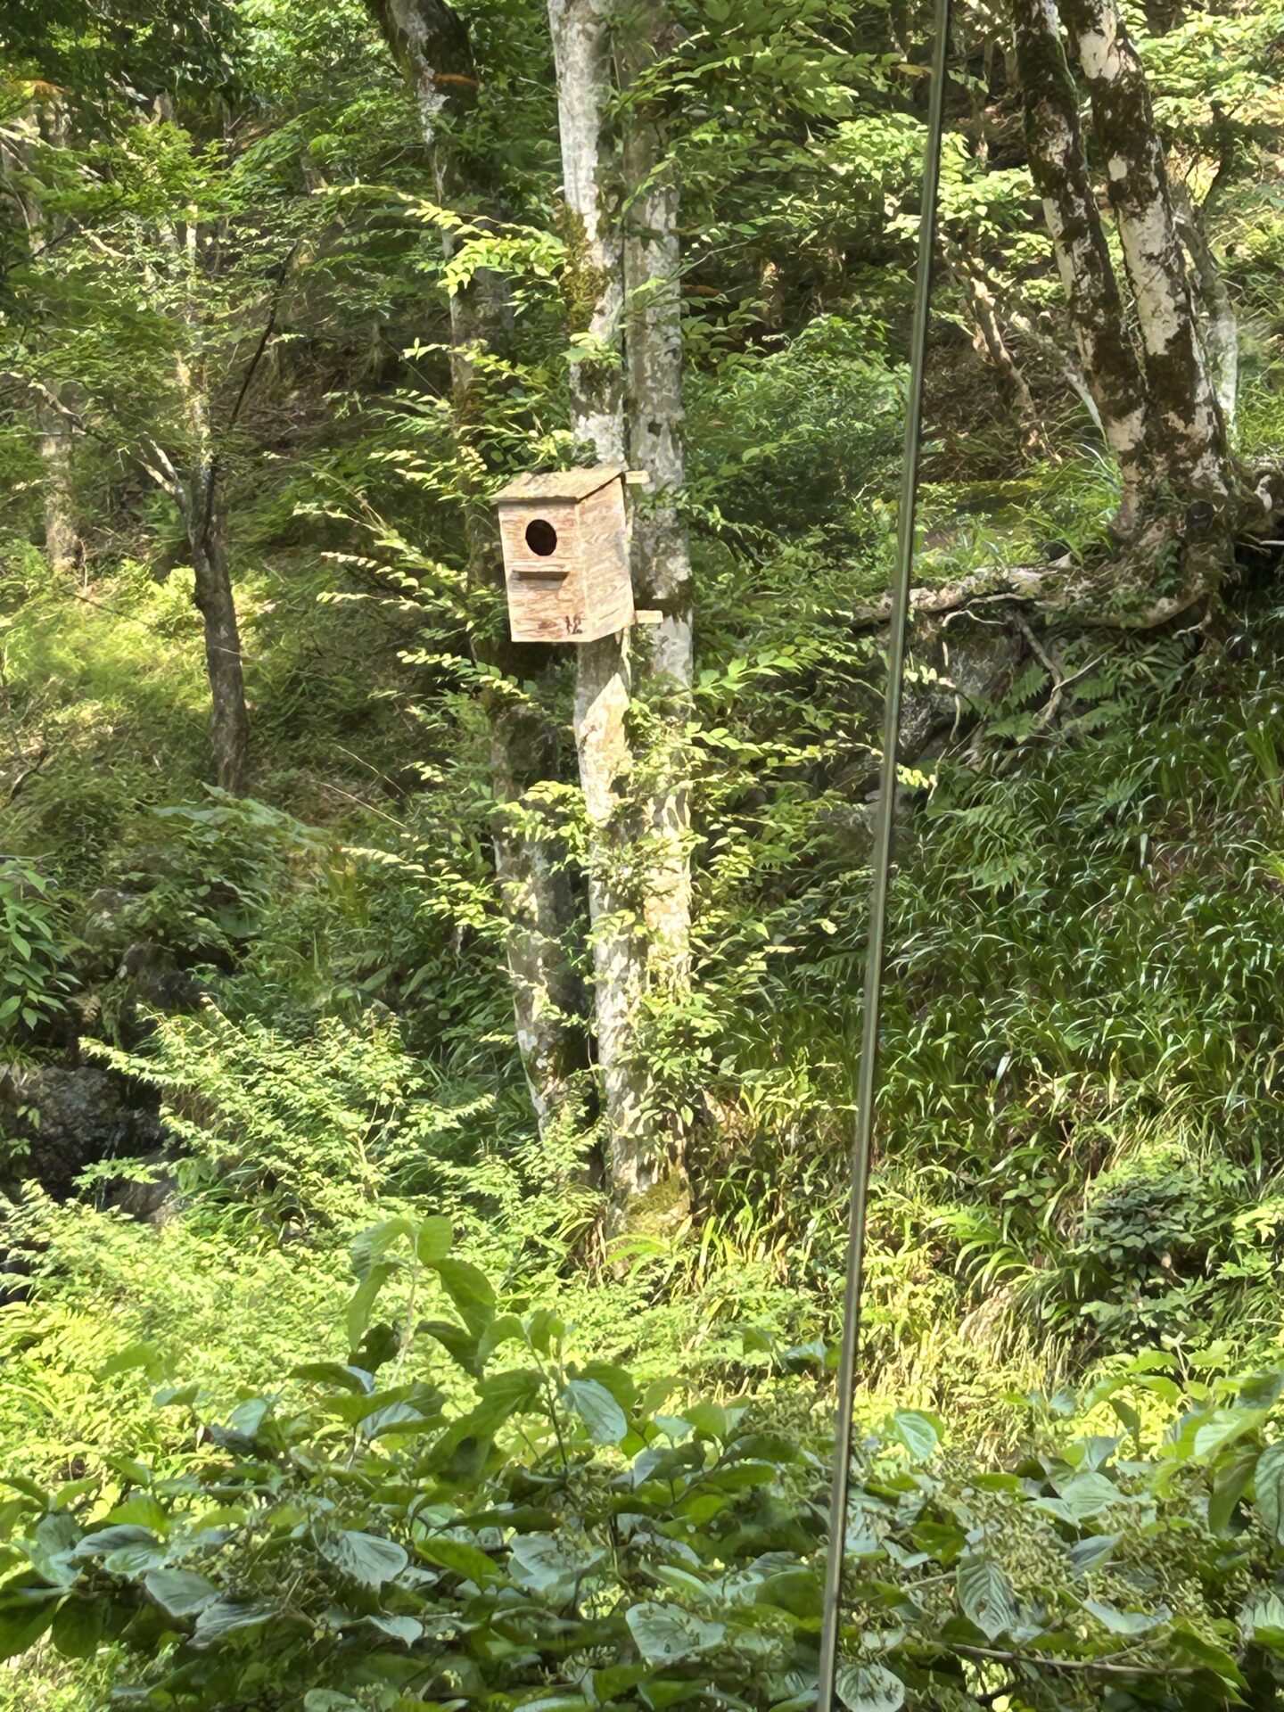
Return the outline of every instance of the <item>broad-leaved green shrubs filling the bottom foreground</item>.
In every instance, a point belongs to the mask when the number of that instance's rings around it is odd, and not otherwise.
[[[443,1219],[373,1226],[353,1258],[348,1361],[245,1397],[166,1476],[122,1455],[56,1489],[10,1484],[5,1654],[46,1632],[70,1659],[106,1645],[118,1698],[190,1712],[815,1691],[825,1465],[805,1409],[570,1363],[563,1322],[505,1311]],[[419,1322],[433,1291],[449,1317]],[[1123,1436],[1049,1442],[1010,1471],[943,1452],[916,1411],[863,1438],[851,1712],[996,1693],[1073,1712],[1125,1686],[1174,1712],[1272,1702],[1284,1376],[1200,1387],[1152,1438],[1142,1406],[1178,1399],[1159,1368],[1084,1399]]]

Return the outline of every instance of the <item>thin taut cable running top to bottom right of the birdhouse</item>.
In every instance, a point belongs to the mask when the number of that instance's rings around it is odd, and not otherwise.
[[[918,510],[918,462],[923,438],[923,366],[931,308],[931,262],[936,241],[936,188],[945,130],[945,56],[950,39],[950,0],[936,0],[931,45],[931,101],[923,154],[923,214],[918,228],[918,277],[914,322],[909,346],[909,397],[906,401],[906,449],[901,466],[901,515],[892,579],[892,620],[887,639],[887,698],[883,702],[883,755],[878,770],[878,806],[873,829],[873,878],[870,883],[870,933],[865,952],[865,1008],[861,1015],[861,1058],[856,1077],[856,1133],[851,1156],[851,1202],[847,1210],[847,1287],[842,1299],[842,1342],[839,1356],[839,1412],[834,1435],[834,1486],[829,1507],[829,1551],[825,1594],[820,1613],[820,1685],[817,1712],[834,1712],[842,1626],[842,1563],[847,1539],[847,1481],[851,1474],[851,1423],[856,1399],[856,1363],[861,1344],[861,1284],[865,1274],[865,1207],[870,1193],[873,1149],[873,1106],[878,1087],[878,1024],[883,996],[883,945],[887,940],[887,890],[892,873],[892,829],[895,822],[895,760],[901,746],[901,693],[906,671],[906,625],[914,568],[914,514]]]

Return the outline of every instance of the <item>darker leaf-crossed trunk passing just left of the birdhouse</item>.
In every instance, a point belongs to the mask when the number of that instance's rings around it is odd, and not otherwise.
[[[476,91],[476,67],[462,21],[438,0],[370,0],[392,55],[416,98],[419,134],[433,185],[449,204],[467,192],[442,118],[466,108]],[[447,259],[452,238],[443,233]],[[481,411],[476,385],[479,348],[502,348],[508,334],[502,282],[479,274],[450,298],[450,385],[455,435],[471,445]],[[503,565],[484,495],[466,495],[469,580],[503,589]],[[512,983],[514,1024],[522,1072],[541,1135],[562,1121],[574,1080],[586,1063],[584,993],[568,957],[575,904],[567,849],[539,786],[558,777],[558,740],[551,722],[520,688],[543,661],[514,649],[502,632],[483,632],[474,652],[505,673],[486,695],[490,772],[495,794],[495,878],[503,909],[505,960]]]

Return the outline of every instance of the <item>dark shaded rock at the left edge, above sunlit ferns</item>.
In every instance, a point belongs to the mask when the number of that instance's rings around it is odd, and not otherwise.
[[[144,1099],[98,1065],[10,1065],[0,1077],[0,1135],[19,1147],[0,1156],[0,1188],[34,1178],[67,1200],[87,1166],[156,1154],[164,1130]]]

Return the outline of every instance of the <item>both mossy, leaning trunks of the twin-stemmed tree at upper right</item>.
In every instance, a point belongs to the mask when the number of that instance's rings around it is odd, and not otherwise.
[[[1012,0],[1012,19],[1031,171],[1084,373],[1120,467],[1118,532],[1137,548],[1135,577],[1147,563],[1176,563],[1185,586],[1214,589],[1231,560],[1234,471],[1145,70],[1115,0],[1060,0],[1060,14],[1055,0]],[[1091,98],[1123,279],[1087,171],[1061,21]],[[1204,294],[1216,298],[1207,248],[1202,262]],[[1233,372],[1226,353],[1221,370]]]

